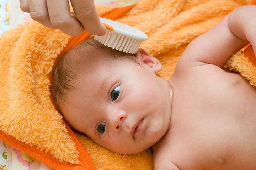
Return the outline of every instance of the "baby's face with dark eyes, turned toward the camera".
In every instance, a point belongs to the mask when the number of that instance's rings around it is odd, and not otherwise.
[[[136,57],[142,67],[125,58],[97,61],[79,73],[66,102],[59,103],[73,128],[122,154],[154,145],[170,124],[169,84],[155,74],[156,64],[144,63],[145,53]]]

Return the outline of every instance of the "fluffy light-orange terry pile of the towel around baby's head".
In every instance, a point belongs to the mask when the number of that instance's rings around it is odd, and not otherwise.
[[[189,42],[248,0],[140,0],[117,19],[145,32],[142,48],[163,64],[169,78]],[[113,7],[98,6],[98,13]],[[70,36],[29,21],[0,39],[0,130],[49,152],[61,162],[78,163],[78,151],[50,100],[48,75]],[[151,152],[121,155],[76,133],[97,168],[153,169]]]

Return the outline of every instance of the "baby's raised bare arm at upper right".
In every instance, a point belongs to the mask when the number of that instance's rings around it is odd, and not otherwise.
[[[256,5],[235,9],[215,27],[194,39],[183,52],[176,69],[204,64],[223,68],[232,54],[249,42],[256,52]]]

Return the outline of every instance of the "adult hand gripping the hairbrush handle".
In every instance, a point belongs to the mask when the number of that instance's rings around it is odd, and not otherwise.
[[[77,19],[70,15],[68,0],[20,0],[20,8],[44,26],[60,29],[71,36],[81,34],[84,29],[95,35],[106,33],[93,0],[70,1]]]

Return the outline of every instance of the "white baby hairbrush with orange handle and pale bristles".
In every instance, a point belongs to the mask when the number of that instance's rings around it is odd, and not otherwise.
[[[70,12],[70,15],[76,18],[75,13]],[[135,54],[142,41],[148,39],[145,33],[126,24],[101,17],[100,22],[104,24],[107,32],[103,36],[95,35],[94,39],[112,49]]]

